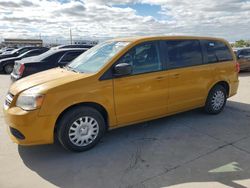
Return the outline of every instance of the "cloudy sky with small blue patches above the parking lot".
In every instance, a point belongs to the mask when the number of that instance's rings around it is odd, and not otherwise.
[[[144,35],[250,39],[250,0],[0,0],[0,41]]]

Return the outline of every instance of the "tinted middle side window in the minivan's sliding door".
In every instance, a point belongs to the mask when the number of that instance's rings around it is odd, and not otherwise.
[[[170,40],[166,43],[169,68],[202,64],[201,45],[198,40]]]

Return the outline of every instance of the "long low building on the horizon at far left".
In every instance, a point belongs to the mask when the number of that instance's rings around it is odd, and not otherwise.
[[[41,39],[4,39],[2,45],[5,47],[19,48],[23,46],[43,46]]]

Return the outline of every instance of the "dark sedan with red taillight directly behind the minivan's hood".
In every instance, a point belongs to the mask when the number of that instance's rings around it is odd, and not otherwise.
[[[37,72],[65,66],[86,50],[85,48],[49,50],[39,56],[16,61],[11,80],[16,81]]]

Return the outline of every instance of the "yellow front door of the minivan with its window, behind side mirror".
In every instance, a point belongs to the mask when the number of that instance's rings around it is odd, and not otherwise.
[[[168,78],[157,42],[145,42],[130,49],[117,64],[127,63],[132,73],[113,79],[118,124],[154,118],[167,112]]]

